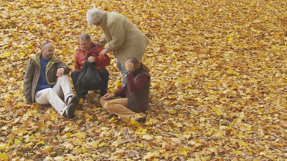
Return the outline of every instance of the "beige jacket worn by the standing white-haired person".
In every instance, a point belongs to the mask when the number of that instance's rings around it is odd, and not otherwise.
[[[150,41],[125,16],[106,12],[100,26],[104,32],[98,45],[105,46],[108,52],[113,51],[123,66],[127,58],[142,58]]]

